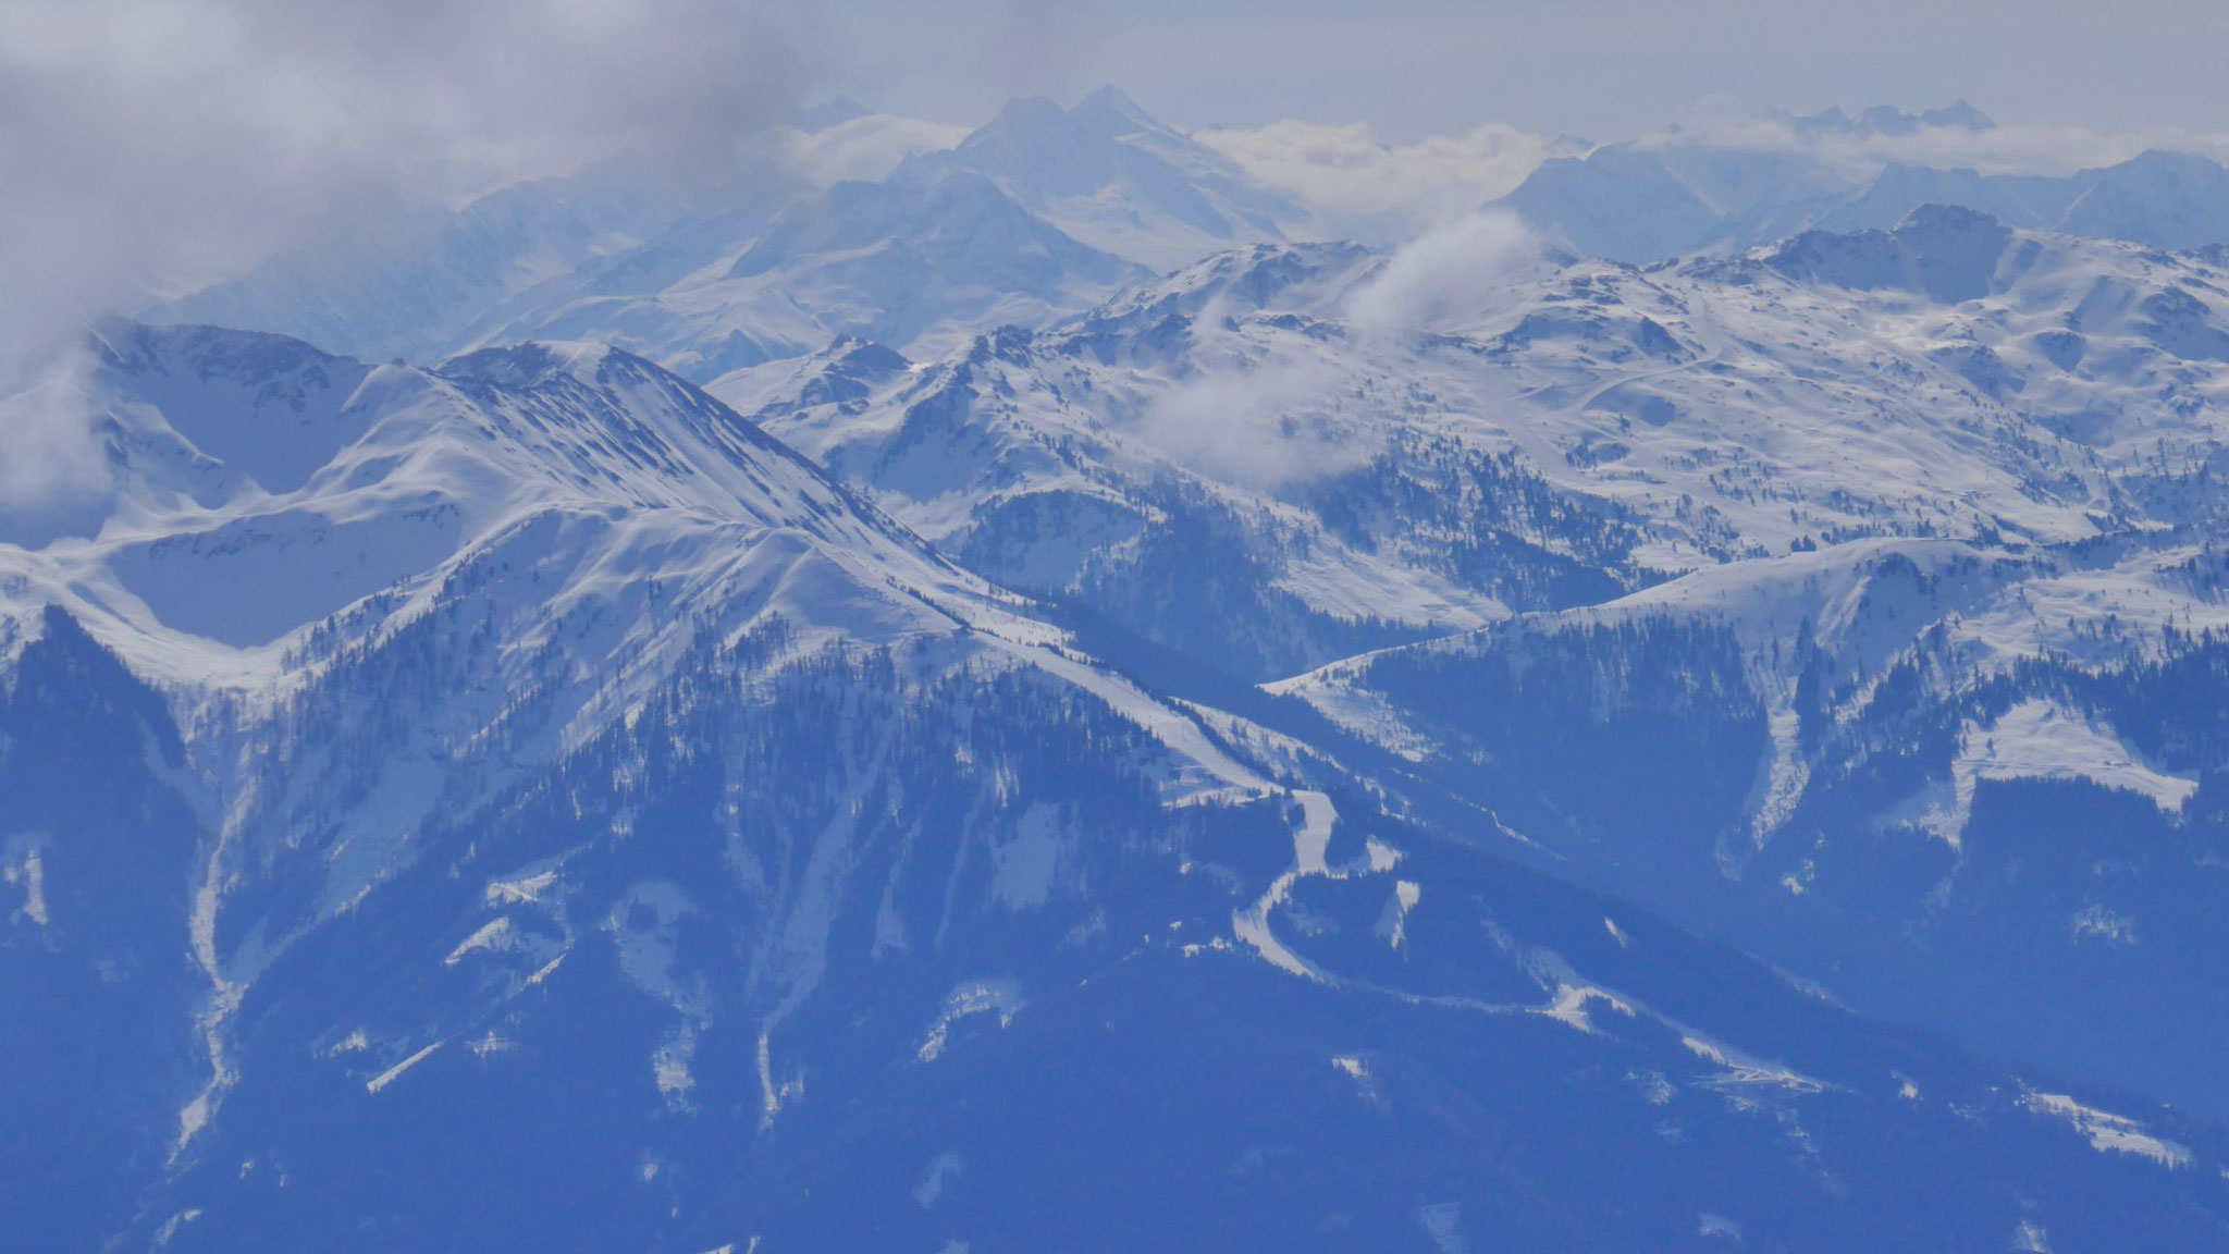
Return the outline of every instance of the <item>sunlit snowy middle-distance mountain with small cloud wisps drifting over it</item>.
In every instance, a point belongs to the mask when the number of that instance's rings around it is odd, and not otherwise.
[[[2200,257],[1928,208],[1511,266],[1433,310],[1364,250],[1257,245],[943,361],[838,344],[713,388],[976,569],[1255,674],[1855,538],[2211,518],[2229,279]],[[1152,585],[1168,544],[1208,631]]]

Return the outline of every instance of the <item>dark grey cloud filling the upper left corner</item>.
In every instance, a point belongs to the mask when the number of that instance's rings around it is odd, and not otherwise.
[[[27,0],[0,40],[0,337],[236,272],[421,192],[617,147],[736,156],[811,9],[722,0]]]

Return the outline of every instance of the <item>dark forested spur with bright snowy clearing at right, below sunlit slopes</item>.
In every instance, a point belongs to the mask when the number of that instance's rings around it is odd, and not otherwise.
[[[2196,529],[1866,540],[1277,692],[1852,1004],[2220,1111],[2222,587]]]

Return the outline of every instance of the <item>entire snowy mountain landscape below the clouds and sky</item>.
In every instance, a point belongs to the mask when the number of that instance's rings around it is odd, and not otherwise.
[[[0,1250],[2229,1250],[2229,170],[753,134],[0,399]]]

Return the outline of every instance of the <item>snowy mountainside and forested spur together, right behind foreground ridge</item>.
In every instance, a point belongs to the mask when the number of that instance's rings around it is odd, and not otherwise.
[[[2120,857],[2102,830],[2204,830],[2202,701],[2160,685],[2211,674],[2229,627],[2229,277],[1957,208],[1674,266],[1536,254],[1386,332],[1398,270],[1255,248],[945,361],[845,344],[716,388],[1110,638],[1242,678],[1373,649],[1271,685],[1306,714],[1250,714],[1353,736],[1384,756],[1333,752],[1458,828],[1875,1013],[2229,1109],[2204,1049],[2158,1046],[2213,944],[2189,888],[2211,837],[2011,899],[1964,893],[2017,855],[1962,870],[1968,821],[2024,788],[2084,797],[2031,817],[2077,868]],[[1852,645],[1852,614],[1890,627]],[[1554,665],[1500,645],[1542,634]],[[1453,643],[1382,649],[1431,636]],[[1859,904],[1810,888],[1812,841]],[[2162,939],[2129,939],[2153,915]]]

